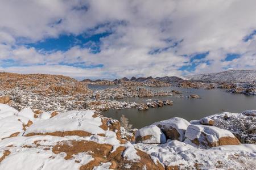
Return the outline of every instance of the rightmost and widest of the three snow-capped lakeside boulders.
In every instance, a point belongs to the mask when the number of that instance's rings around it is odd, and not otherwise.
[[[230,131],[215,126],[189,125],[185,138],[186,143],[200,148],[241,144]]]

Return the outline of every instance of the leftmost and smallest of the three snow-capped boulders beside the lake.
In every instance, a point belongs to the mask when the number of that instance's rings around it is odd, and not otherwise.
[[[165,143],[166,136],[158,126],[150,125],[136,131],[135,142],[144,144]]]

